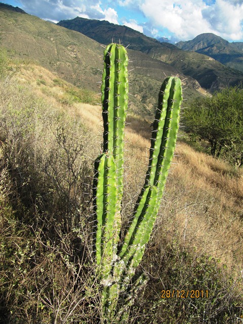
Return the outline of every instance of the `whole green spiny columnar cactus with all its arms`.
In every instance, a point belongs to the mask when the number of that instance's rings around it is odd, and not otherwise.
[[[159,92],[144,187],[124,241],[119,242],[124,128],[128,108],[127,65],[127,51],[123,46],[112,43],[106,47],[101,86],[103,153],[95,161],[93,192],[96,271],[102,285],[101,301],[107,322],[114,316],[121,321],[132,303],[132,295],[146,281],[143,274],[135,275],[135,270],[142,260],[160,206],[174,155],[182,101],[180,79],[167,77]],[[118,310],[117,303],[122,294],[127,299]]]

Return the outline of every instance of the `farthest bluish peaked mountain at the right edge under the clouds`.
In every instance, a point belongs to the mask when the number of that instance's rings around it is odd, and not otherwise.
[[[203,33],[191,41],[179,42],[176,46],[184,51],[208,55],[226,66],[243,71],[242,44],[229,43],[213,33]]]

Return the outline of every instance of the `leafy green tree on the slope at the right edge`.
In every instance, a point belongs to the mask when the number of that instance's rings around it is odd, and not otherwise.
[[[197,98],[185,117],[187,130],[210,143],[211,155],[243,165],[243,89],[231,87],[211,98]]]

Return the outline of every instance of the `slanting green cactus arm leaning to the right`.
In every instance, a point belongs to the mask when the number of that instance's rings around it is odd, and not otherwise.
[[[151,139],[149,166],[141,198],[119,256],[136,267],[141,261],[160,206],[174,155],[182,101],[179,78],[168,77],[160,89]],[[155,190],[156,189],[156,190]],[[137,247],[137,248],[136,248]]]

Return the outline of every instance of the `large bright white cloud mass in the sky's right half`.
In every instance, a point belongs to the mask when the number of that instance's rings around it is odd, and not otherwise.
[[[242,0],[120,0],[128,9],[137,8],[148,19],[152,29],[167,29],[187,40],[205,32],[226,39],[243,38]]]

